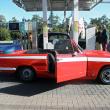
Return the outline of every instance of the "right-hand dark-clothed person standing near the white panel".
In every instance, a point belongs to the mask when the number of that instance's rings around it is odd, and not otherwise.
[[[107,33],[106,33],[106,29],[104,29],[102,31],[101,41],[102,41],[102,49],[103,49],[103,51],[105,51],[106,50],[106,46],[107,46]]]

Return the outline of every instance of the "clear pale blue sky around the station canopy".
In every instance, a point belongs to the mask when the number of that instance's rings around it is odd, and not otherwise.
[[[108,0],[110,1],[110,0]],[[80,11],[79,18],[84,18],[86,22],[90,22],[90,18],[98,18],[103,15],[106,15],[110,18],[110,3],[100,3],[96,7],[94,7],[91,11]],[[6,20],[9,21],[12,17],[16,17],[17,20],[21,21],[22,18],[31,19],[32,15],[37,14],[42,16],[42,12],[26,12],[22,8],[17,7],[12,0],[0,0],[0,15],[4,15]],[[55,15],[63,20],[64,13],[63,12],[54,12]],[[48,13],[49,15],[49,13]],[[67,17],[71,15],[71,12],[67,12]]]

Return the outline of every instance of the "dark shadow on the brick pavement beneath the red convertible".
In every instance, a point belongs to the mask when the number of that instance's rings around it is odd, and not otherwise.
[[[3,84],[4,83],[4,84]],[[2,84],[5,85],[2,87]],[[9,85],[10,84],[10,85]],[[36,94],[44,93],[57,89],[65,85],[84,85],[84,84],[97,84],[95,81],[81,81],[74,80],[57,84],[54,80],[50,79],[36,79],[31,83],[21,83],[15,78],[14,75],[0,74],[0,93],[19,95],[19,96],[33,96]]]

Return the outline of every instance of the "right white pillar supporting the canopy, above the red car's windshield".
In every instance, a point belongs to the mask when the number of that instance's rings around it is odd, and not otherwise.
[[[78,19],[79,19],[79,0],[73,0],[73,39],[78,44]]]

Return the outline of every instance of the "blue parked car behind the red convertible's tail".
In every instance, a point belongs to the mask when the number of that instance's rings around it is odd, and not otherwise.
[[[0,54],[12,53],[17,50],[22,50],[22,46],[18,41],[1,41],[0,42]]]

